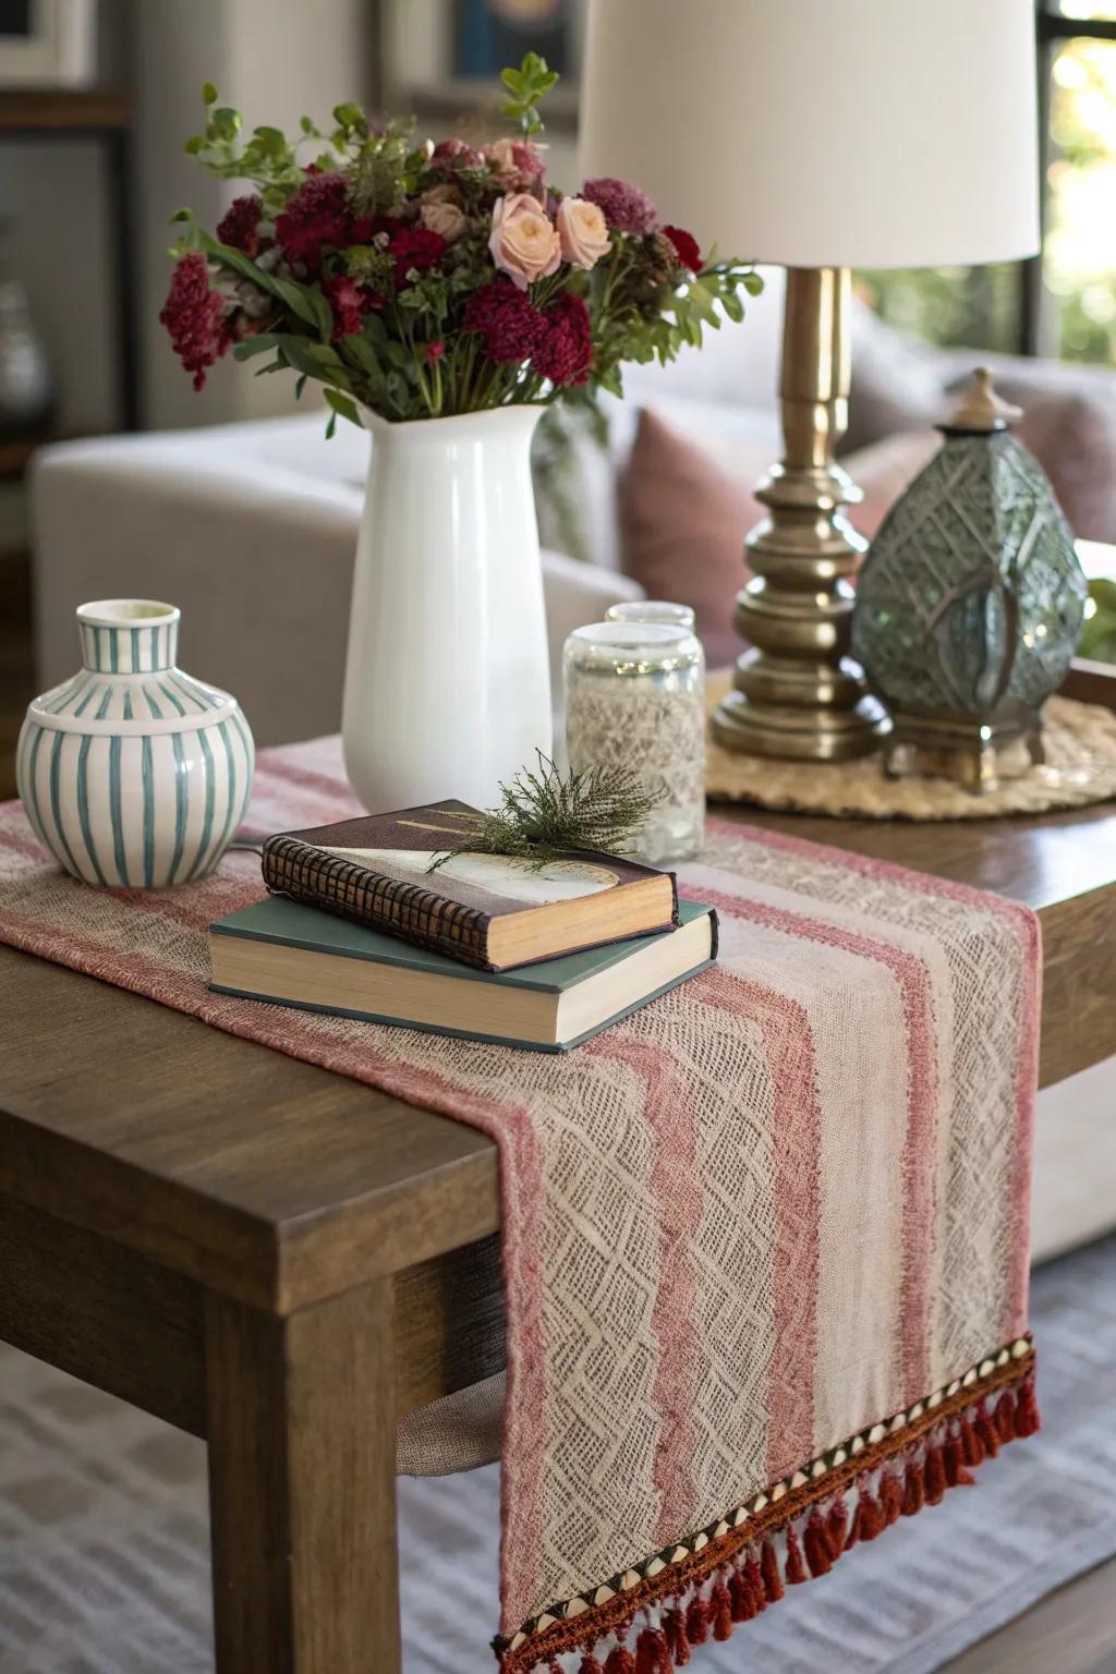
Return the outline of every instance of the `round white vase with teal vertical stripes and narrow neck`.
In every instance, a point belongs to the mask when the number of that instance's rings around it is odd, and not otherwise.
[[[179,611],[77,611],[82,668],[27,710],[17,783],[38,840],[105,889],[192,884],[244,817],[256,750],[236,698],[176,666]]]

